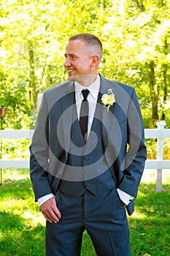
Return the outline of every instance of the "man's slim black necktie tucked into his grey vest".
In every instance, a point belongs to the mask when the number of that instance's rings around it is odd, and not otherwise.
[[[89,91],[88,90],[82,90],[82,96],[84,99],[82,99],[82,105],[80,108],[80,127],[82,129],[82,135],[85,138],[85,141],[87,140],[87,135],[85,136],[86,132],[88,132],[88,97]]]

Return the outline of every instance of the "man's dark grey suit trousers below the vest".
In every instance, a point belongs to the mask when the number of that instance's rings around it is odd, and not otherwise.
[[[116,187],[93,195],[73,197],[58,190],[61,211],[57,224],[47,222],[46,256],[80,256],[82,234],[87,230],[96,255],[131,256],[125,206]]]

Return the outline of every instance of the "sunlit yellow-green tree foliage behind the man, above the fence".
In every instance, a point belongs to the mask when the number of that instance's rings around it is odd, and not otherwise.
[[[169,1],[3,0],[0,17],[0,104],[8,109],[6,127],[23,129],[22,117],[34,116],[42,91],[67,78],[66,42],[82,32],[101,39],[99,72],[136,88],[142,109],[147,108],[144,118],[169,115]]]

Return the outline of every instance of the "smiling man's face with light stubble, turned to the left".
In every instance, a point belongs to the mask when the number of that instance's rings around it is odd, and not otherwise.
[[[64,67],[69,74],[69,80],[80,82],[87,75],[96,75],[92,68],[92,53],[82,40],[69,42],[66,45],[65,57]]]

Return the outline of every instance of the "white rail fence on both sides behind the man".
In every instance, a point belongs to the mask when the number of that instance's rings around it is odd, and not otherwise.
[[[162,190],[162,170],[170,170],[170,160],[163,160],[163,139],[170,138],[170,129],[164,129],[166,123],[158,122],[158,129],[144,129],[145,138],[157,138],[157,159],[147,160],[145,169],[157,170],[156,191]],[[30,139],[34,133],[30,130],[0,130],[0,139],[25,138]],[[169,153],[170,154],[170,153]],[[0,159],[0,168],[29,168],[29,159]]]

